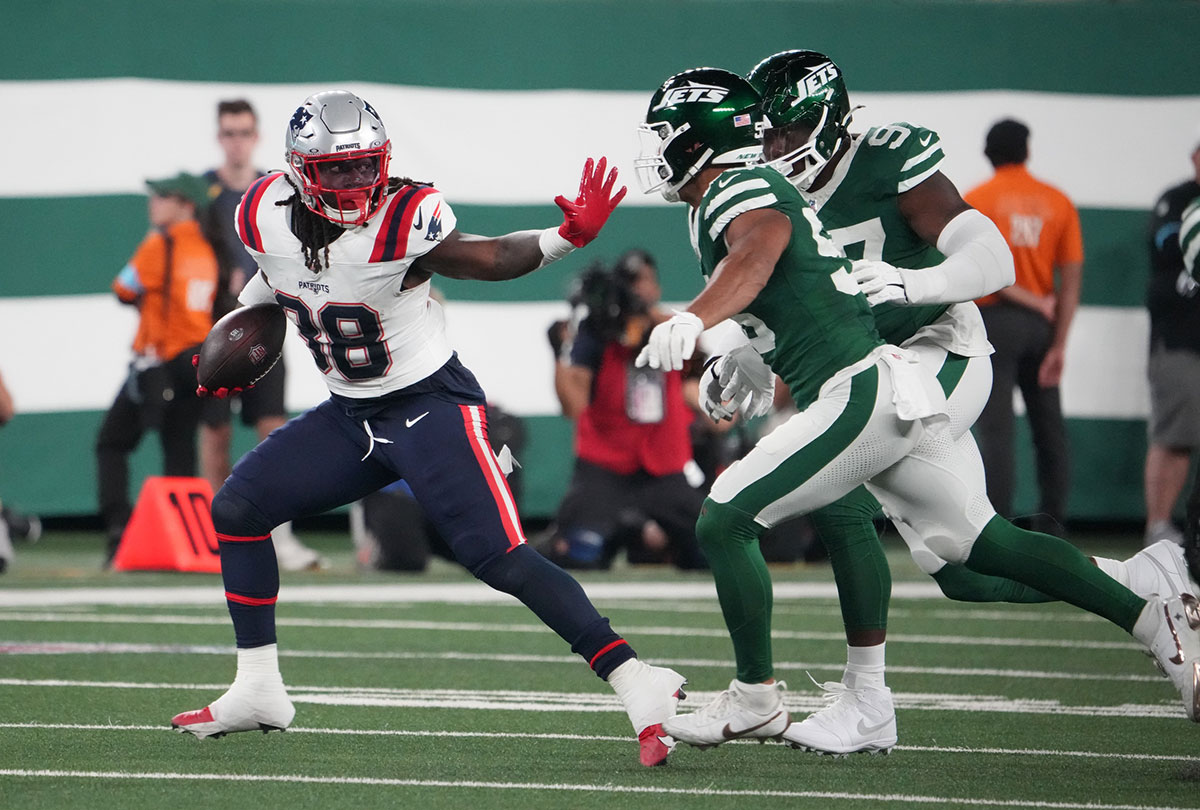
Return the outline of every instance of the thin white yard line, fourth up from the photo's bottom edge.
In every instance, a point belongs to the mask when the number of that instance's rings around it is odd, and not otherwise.
[[[228,655],[235,654],[233,646],[223,644],[139,644],[76,641],[4,641],[0,655]],[[497,661],[509,664],[565,664],[577,666],[576,655],[533,655],[527,653],[472,653],[472,652],[391,652],[391,650],[328,650],[281,649],[281,658],[298,659],[354,659],[382,661]],[[674,667],[712,667],[727,670],[733,662],[727,659],[655,658],[655,664]],[[775,667],[787,670],[812,670],[841,672],[842,661],[776,661]],[[1157,674],[1109,674],[1098,672],[1062,672],[1042,670],[1000,670],[988,667],[922,667],[889,665],[889,673],[938,674],[983,678],[1031,678],[1038,680],[1104,680],[1120,683],[1158,683]]]

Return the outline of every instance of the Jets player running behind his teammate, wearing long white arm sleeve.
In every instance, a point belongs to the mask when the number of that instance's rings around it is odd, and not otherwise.
[[[1004,238],[940,170],[944,156],[936,132],[906,122],[848,132],[845,79],[824,54],[785,50],[758,62],[746,79],[762,96],[766,160],[809,200],[847,256],[859,259],[852,276],[874,305],[880,335],[918,352],[937,374],[950,434],[977,462],[970,428],[991,390],[991,346],[971,300],[1013,282]],[[983,480],[978,463],[974,474]],[[840,683],[824,685],[827,707],[788,728],[785,739],[798,748],[846,754],[895,743],[895,710],[883,678],[890,574],[872,522],[878,510],[878,500],[859,487],[810,516],[838,581],[847,666]],[[906,523],[896,528],[917,565],[950,599],[1050,600],[1013,580],[949,565]],[[1162,551],[1128,563],[1099,562],[1117,577],[1146,569],[1146,576],[1122,578],[1142,596],[1195,593],[1182,551],[1168,554],[1178,559],[1158,560]],[[1164,571],[1174,581],[1169,590],[1162,588]]]

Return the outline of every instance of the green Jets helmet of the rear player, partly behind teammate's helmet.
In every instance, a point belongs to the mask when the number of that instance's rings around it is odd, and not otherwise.
[[[853,109],[841,70],[815,50],[784,50],[755,65],[746,80],[762,96],[768,162],[808,190],[848,137]]]

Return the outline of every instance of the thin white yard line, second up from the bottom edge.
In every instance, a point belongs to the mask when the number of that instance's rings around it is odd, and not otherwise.
[[[0,722],[0,728],[30,728],[48,731],[152,731],[162,732],[166,725],[120,725],[98,722]],[[347,737],[432,737],[461,739],[546,739],[568,742],[629,743],[629,737],[617,734],[548,734],[515,731],[446,731],[408,728],[308,728],[293,726],[288,733],[335,734]],[[757,745],[758,740],[734,740],[734,745]],[[985,756],[1064,756],[1079,760],[1136,760],[1144,762],[1195,762],[1196,757],[1178,754],[1122,754],[1118,751],[1056,751],[1032,748],[967,748],[961,745],[896,745],[896,751],[924,754],[977,754]]]

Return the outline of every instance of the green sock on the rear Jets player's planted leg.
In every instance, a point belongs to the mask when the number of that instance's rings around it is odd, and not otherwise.
[[[892,570],[875,532],[878,511],[880,502],[865,487],[858,487],[809,516],[829,552],[847,634],[888,626]]]

